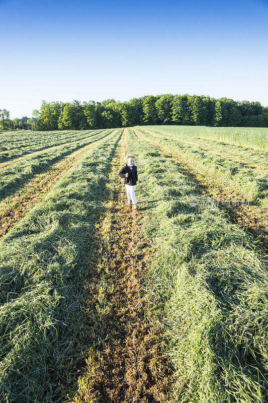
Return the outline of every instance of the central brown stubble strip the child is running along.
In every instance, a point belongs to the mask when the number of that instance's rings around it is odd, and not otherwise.
[[[162,341],[146,310],[143,281],[151,260],[149,240],[139,232],[139,215],[127,207],[118,177],[125,141],[112,161],[106,212],[97,230],[97,267],[90,267],[86,307],[96,348],[86,359],[85,375],[73,403],[164,402],[168,368]],[[98,350],[97,349],[97,350]],[[68,400],[70,401],[70,400]]]

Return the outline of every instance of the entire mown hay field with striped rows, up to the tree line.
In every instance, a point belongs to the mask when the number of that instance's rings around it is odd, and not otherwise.
[[[268,401],[267,130],[0,133],[0,401]]]

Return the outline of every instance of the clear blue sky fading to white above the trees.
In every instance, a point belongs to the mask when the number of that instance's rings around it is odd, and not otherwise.
[[[0,109],[197,94],[268,106],[268,0],[0,0]]]

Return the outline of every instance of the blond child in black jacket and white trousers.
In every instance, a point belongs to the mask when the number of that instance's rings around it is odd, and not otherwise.
[[[137,175],[137,167],[134,165],[134,157],[133,155],[127,154],[126,157],[124,158],[124,164],[123,168],[119,172],[120,178],[125,178],[124,184],[126,186],[126,191],[127,191],[127,197],[128,197],[128,206],[132,203],[134,205],[134,210],[138,208],[137,206],[137,199],[135,196],[135,185],[138,180],[138,175]]]

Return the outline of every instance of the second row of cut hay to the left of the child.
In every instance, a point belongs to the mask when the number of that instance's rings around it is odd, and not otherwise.
[[[86,147],[108,136],[113,130],[100,132],[96,136],[75,143],[65,144],[51,151],[44,151],[0,170],[0,200],[13,194],[27,183],[34,175],[49,169],[52,164],[70,155],[76,150]]]

